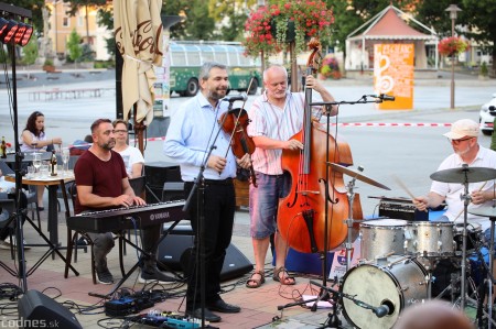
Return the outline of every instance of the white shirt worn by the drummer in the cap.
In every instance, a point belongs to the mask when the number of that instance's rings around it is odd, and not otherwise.
[[[462,158],[453,153],[448,156],[439,166],[438,171],[452,169],[452,168],[461,168],[464,162]],[[475,160],[468,164],[470,167],[486,167],[486,168],[496,168],[496,152],[479,146],[477,156]],[[478,182],[478,183],[470,183],[468,184],[468,194],[473,191],[486,191],[493,190],[494,180],[487,182]],[[445,201],[448,205],[448,210],[444,213],[450,221],[454,221],[456,223],[463,223],[464,215],[463,208],[464,202],[461,200],[460,196],[464,194],[464,185],[460,183],[442,183],[442,182],[432,182],[431,191],[439,194],[440,196],[445,197]],[[493,201],[486,201],[482,205],[468,205],[468,211],[471,209],[477,209],[482,207],[490,207]],[[460,216],[459,216],[460,215]],[[482,226],[483,231],[489,228],[490,222],[486,217],[479,217],[472,213],[467,213],[467,220],[470,222],[476,222]]]

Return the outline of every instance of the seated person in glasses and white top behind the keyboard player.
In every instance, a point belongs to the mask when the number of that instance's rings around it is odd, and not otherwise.
[[[128,145],[128,123],[122,119],[117,119],[112,122],[112,125],[116,136],[116,146],[112,150],[122,156],[128,177],[136,178],[142,176],[144,158],[140,150]]]

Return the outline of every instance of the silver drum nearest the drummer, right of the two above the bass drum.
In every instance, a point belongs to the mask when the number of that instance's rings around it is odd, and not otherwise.
[[[454,253],[453,223],[451,222],[410,222],[405,237],[407,254],[432,257],[450,256]]]

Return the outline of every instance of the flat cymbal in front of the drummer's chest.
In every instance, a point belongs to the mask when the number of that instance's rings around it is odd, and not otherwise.
[[[443,183],[477,183],[496,178],[496,169],[486,167],[461,167],[435,172],[432,180]]]

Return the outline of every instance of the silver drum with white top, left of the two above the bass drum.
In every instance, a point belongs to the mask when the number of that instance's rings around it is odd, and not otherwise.
[[[377,219],[360,223],[360,257],[374,260],[392,254],[405,254],[405,228],[401,219]]]

